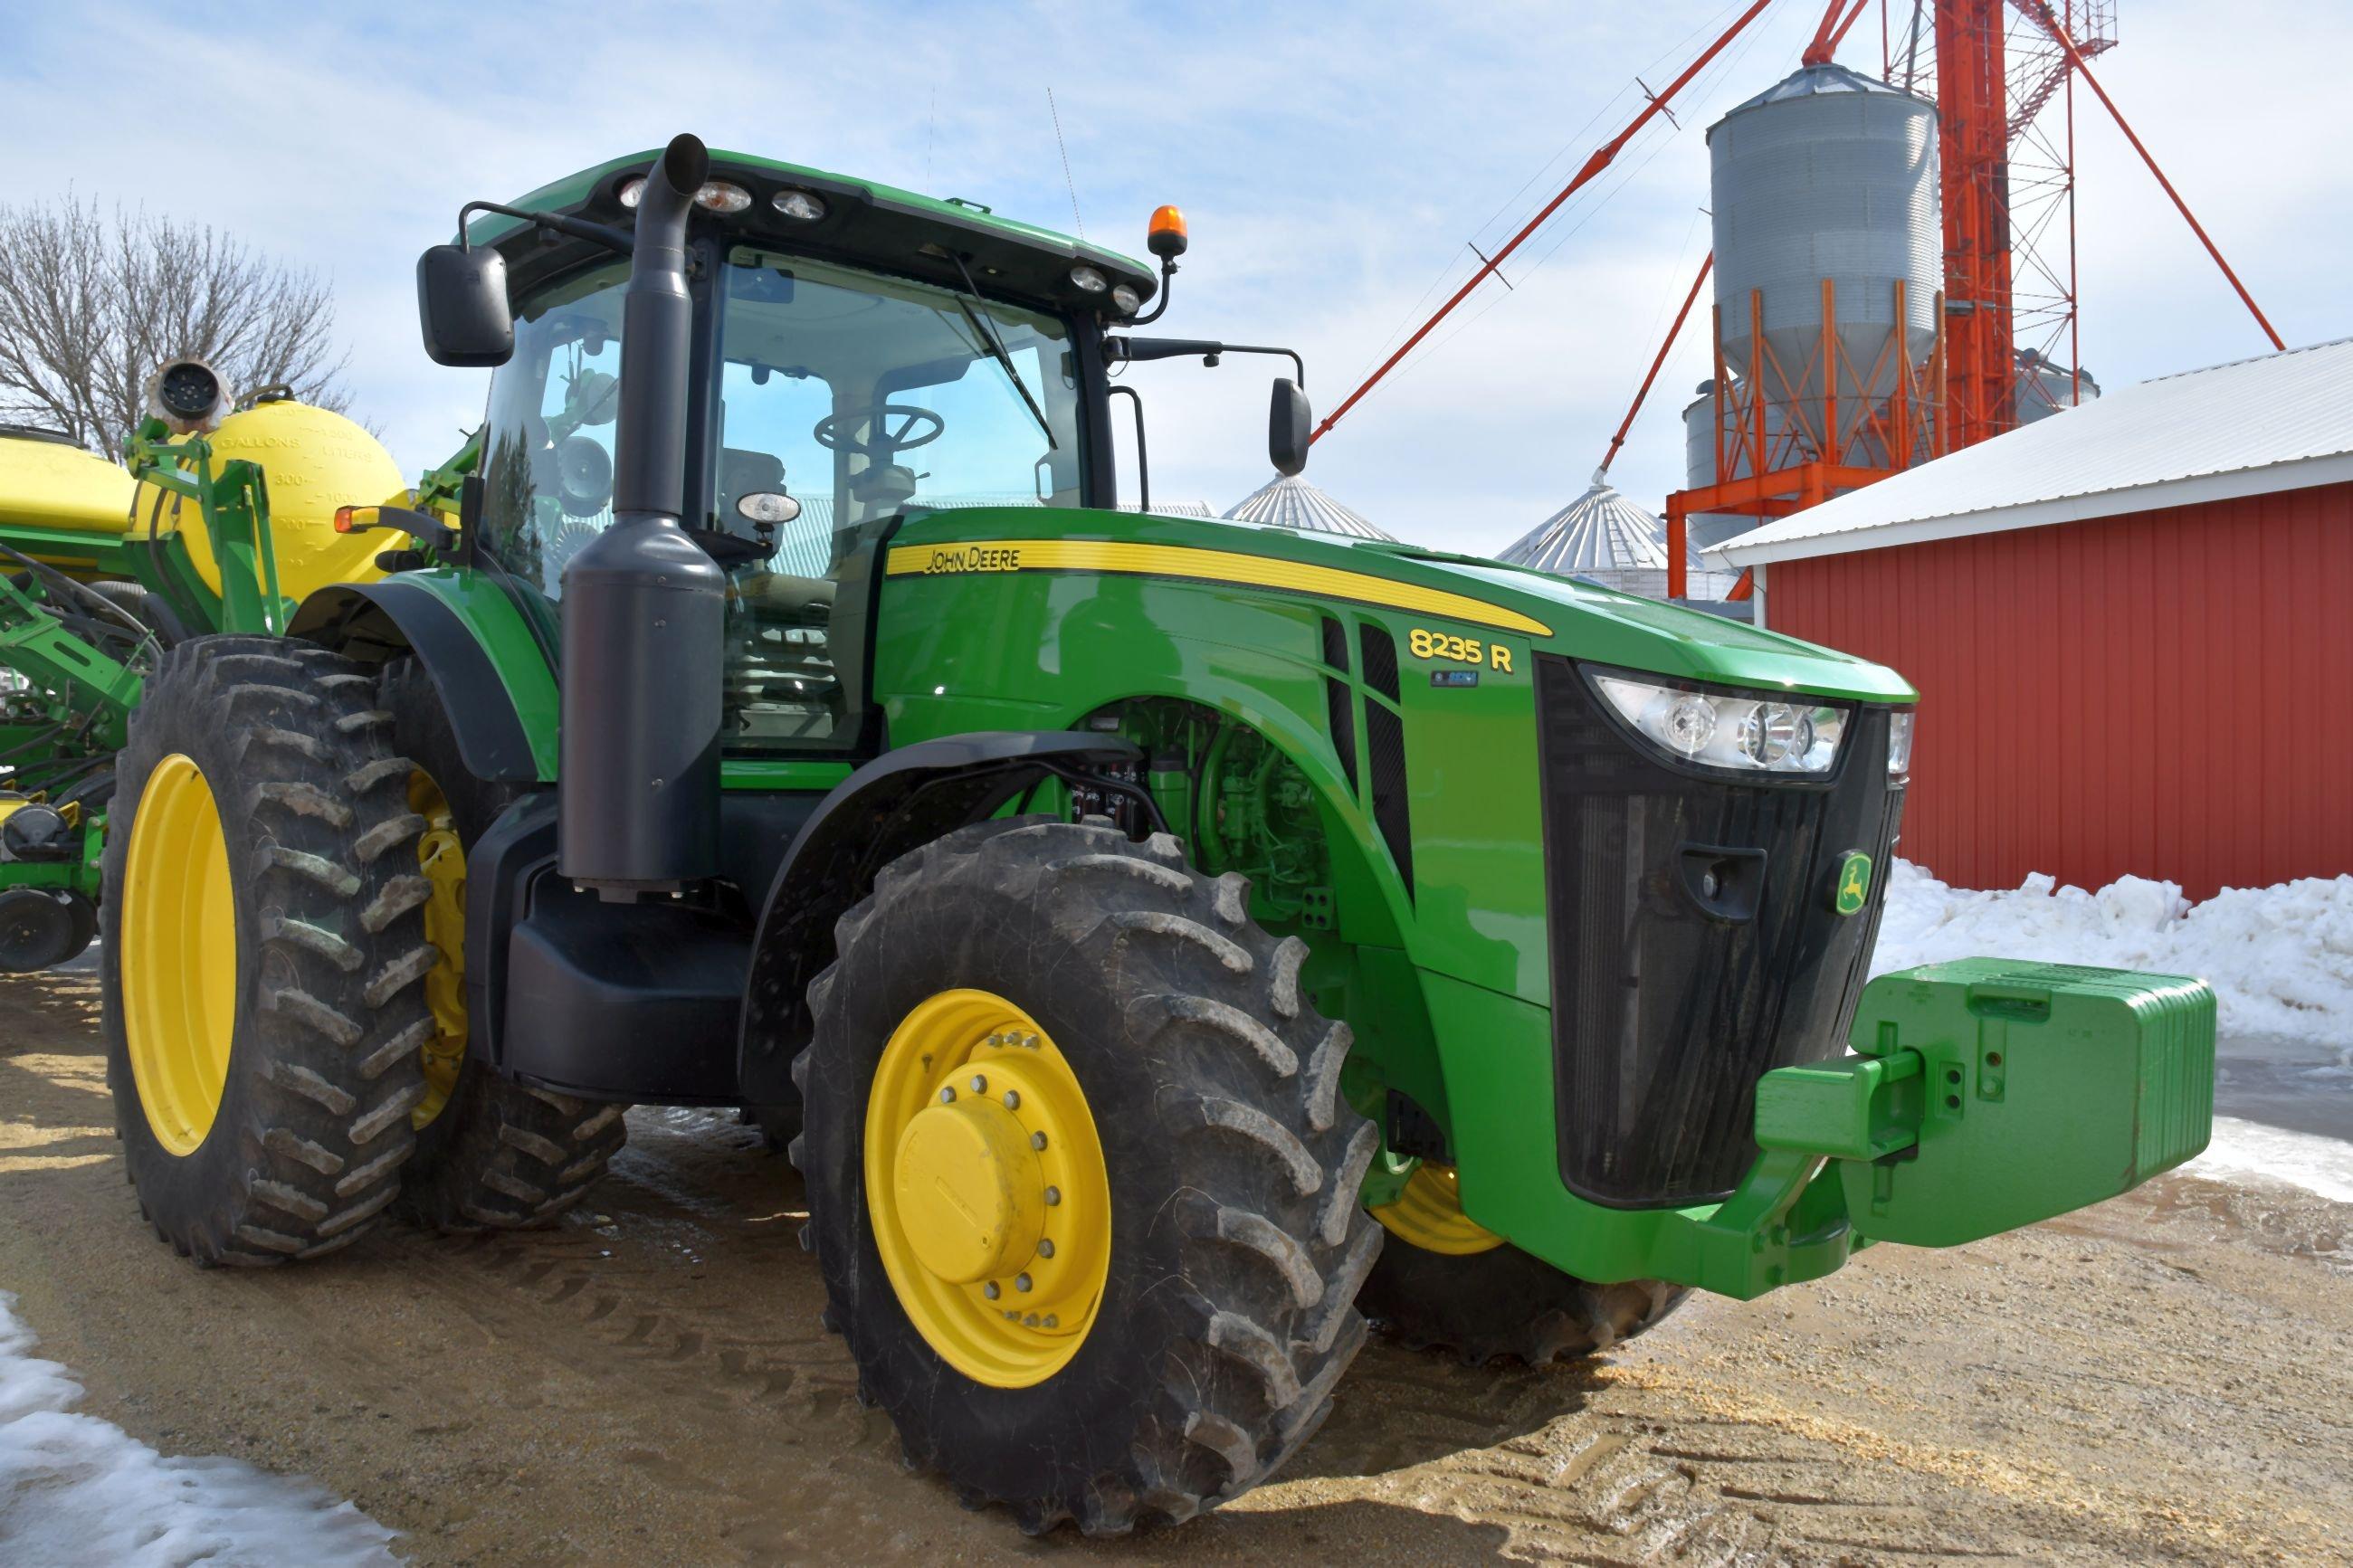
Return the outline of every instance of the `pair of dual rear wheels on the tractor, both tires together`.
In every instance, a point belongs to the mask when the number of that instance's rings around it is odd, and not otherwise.
[[[104,1032],[158,1237],[268,1265],[348,1246],[395,1204],[534,1225],[586,1192],[621,1110],[466,1058],[464,846],[504,802],[464,776],[412,668],[181,642],[118,778]]]

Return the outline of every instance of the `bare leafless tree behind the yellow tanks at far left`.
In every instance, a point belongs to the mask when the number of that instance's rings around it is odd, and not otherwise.
[[[184,357],[240,395],[285,386],[351,407],[334,292],[318,273],[146,209],[0,205],[0,421],[113,456],[146,416],[148,376]]]

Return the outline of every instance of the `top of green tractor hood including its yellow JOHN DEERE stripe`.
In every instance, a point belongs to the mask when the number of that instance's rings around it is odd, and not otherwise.
[[[1520,637],[1532,649],[1621,670],[1861,703],[1918,701],[1885,665],[1722,616],[1473,555],[1247,522],[960,508],[908,520],[887,571],[1108,571],[1231,583],[1428,616],[1431,630]]]

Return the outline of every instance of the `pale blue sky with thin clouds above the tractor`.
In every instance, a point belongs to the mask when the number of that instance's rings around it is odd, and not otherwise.
[[[713,146],[965,195],[1141,252],[1181,202],[1165,331],[1306,350],[1329,409],[1466,242],[1508,235],[1734,14],[1652,5],[26,5],[0,0],[7,195],[207,219],[332,275],[355,411],[409,470],[480,418],[482,378],[416,346],[414,259],[504,200],[680,129]],[[1899,5],[1908,14],[1908,5]],[[1308,475],[1407,538],[1492,550],[1577,496],[1706,252],[1704,127],[1795,66],[1819,7],[1779,0],[1475,299],[1435,353],[1315,447]],[[2101,78],[2289,343],[2353,331],[2353,14],[2122,0]],[[1866,59],[1868,56],[1868,59]],[[1878,14],[1842,56],[1878,63]],[[2082,357],[2108,386],[2264,348],[2122,136],[2078,106]],[[1541,266],[1532,266],[1541,261]],[[1492,306],[1492,308],[1489,308]],[[1657,505],[1687,334],[1614,465]],[[1266,369],[1139,367],[1153,494],[1228,505],[1266,477]]]

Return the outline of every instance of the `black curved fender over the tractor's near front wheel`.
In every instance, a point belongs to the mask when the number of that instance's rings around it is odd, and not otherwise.
[[[798,1100],[791,1070],[809,1037],[809,980],[833,961],[833,922],[873,891],[878,870],[1049,776],[1141,759],[1120,736],[986,731],[901,745],[838,783],[793,837],[760,905],[739,1041],[744,1100]]]

